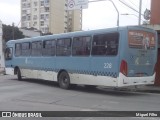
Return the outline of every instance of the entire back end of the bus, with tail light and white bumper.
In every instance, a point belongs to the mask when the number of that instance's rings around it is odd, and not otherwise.
[[[118,86],[154,84],[156,32],[143,27],[128,27],[125,34],[126,39],[121,41]]]

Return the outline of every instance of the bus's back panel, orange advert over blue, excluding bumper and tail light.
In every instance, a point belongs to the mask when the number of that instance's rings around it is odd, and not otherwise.
[[[156,64],[156,35],[142,30],[129,30],[127,52],[128,77],[153,76]]]

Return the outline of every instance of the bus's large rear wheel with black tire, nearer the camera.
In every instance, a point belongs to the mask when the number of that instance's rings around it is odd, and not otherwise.
[[[70,77],[67,72],[62,71],[58,76],[58,83],[60,88],[69,89],[70,88]]]

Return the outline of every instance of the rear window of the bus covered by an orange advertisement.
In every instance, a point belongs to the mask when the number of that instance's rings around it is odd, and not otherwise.
[[[140,30],[130,30],[128,32],[128,41],[130,48],[138,49],[155,49],[156,41],[155,34],[140,31]]]

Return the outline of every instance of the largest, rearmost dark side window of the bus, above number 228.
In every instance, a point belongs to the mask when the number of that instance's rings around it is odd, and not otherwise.
[[[107,56],[118,53],[118,33],[106,33],[94,35],[92,43],[92,55]]]

